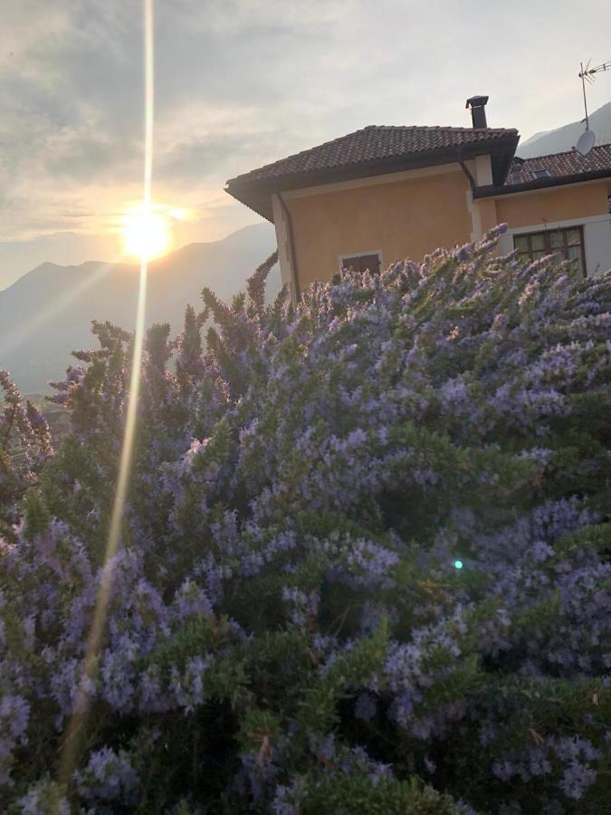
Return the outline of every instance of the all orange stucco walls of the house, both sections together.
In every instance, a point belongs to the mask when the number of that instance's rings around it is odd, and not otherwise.
[[[468,162],[478,185],[492,180],[489,164],[488,157]],[[607,195],[607,182],[600,181],[473,201],[463,169],[453,164],[295,190],[284,201],[303,291],[316,279],[329,280],[341,255],[380,251],[383,266],[406,257],[420,261],[438,246],[477,240],[502,222],[512,230],[606,216]],[[288,225],[279,207],[276,202],[274,220],[284,250]],[[289,283],[291,260],[282,251]]]

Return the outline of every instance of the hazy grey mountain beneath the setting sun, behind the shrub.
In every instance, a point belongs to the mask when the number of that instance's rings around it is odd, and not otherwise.
[[[254,269],[275,249],[273,226],[246,226],[221,241],[190,244],[149,265],[147,322],[169,322],[180,331],[186,305],[201,304],[204,286],[226,300],[244,288]],[[280,288],[276,266],[269,289]],[[42,264],[0,292],[0,368],[25,393],[62,378],[71,351],[95,347],[91,320],[133,329],[138,266]]]

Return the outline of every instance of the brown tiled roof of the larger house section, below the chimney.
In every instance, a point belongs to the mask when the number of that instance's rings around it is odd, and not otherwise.
[[[369,125],[318,147],[303,150],[254,169],[234,182],[260,182],[286,177],[337,170],[386,161],[393,158],[418,158],[425,153],[456,151],[459,148],[488,146],[504,139],[517,143],[518,132],[505,128],[384,127]]]

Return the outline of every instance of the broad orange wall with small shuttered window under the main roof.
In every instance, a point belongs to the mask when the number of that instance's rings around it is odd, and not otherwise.
[[[471,239],[469,182],[458,165],[339,187],[285,195],[301,289],[329,280],[343,254],[381,250],[386,266]]]

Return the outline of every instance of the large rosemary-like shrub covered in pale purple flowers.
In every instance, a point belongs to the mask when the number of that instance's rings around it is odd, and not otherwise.
[[[3,809],[608,811],[611,275],[498,231],[149,331],[110,561],[94,325],[1,543]]]

